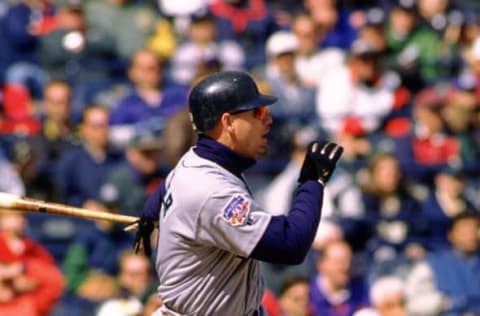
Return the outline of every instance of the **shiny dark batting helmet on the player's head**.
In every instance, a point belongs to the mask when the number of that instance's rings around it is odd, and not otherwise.
[[[225,112],[249,110],[270,105],[277,98],[263,95],[252,77],[241,71],[222,71],[201,80],[188,99],[192,122],[197,132],[212,129]]]

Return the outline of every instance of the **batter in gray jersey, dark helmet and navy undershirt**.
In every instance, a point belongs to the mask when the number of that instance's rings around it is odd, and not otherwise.
[[[323,189],[342,147],[314,142],[288,216],[272,216],[242,173],[267,153],[276,98],[244,72],[215,73],[193,87],[197,143],[145,204],[136,248],[159,222],[156,269],[164,304],[154,315],[265,315],[259,260],[301,263],[320,220]]]

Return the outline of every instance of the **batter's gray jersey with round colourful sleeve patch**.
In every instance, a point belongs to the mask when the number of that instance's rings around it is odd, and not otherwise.
[[[253,315],[264,292],[249,255],[271,215],[246,184],[190,149],[166,180],[159,215],[158,292],[187,315]]]

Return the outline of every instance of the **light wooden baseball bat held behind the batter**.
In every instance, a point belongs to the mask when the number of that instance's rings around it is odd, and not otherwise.
[[[22,212],[57,214],[90,220],[104,220],[121,224],[133,224],[138,220],[135,216],[112,214],[107,212],[92,211],[70,205],[46,202],[28,197],[0,192],[0,208]]]

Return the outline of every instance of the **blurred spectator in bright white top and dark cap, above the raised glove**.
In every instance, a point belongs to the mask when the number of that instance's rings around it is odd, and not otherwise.
[[[367,134],[377,132],[393,110],[392,84],[379,52],[365,39],[353,42],[345,64],[330,71],[317,87],[316,112],[321,128],[337,135],[346,118],[355,118]]]

